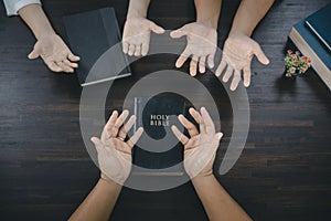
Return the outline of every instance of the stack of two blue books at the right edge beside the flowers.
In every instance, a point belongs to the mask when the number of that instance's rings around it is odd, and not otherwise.
[[[299,21],[289,38],[331,90],[331,3]]]

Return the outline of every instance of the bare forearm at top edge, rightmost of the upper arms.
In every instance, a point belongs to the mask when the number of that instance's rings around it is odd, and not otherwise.
[[[231,34],[241,33],[250,36],[274,1],[275,0],[242,0],[232,25]]]

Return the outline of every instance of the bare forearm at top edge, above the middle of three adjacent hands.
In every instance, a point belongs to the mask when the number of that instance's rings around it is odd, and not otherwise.
[[[194,0],[196,22],[217,29],[222,0]]]

